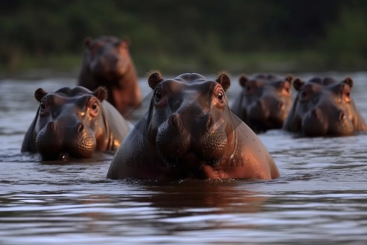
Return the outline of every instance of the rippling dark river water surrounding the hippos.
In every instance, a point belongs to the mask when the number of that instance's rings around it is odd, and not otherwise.
[[[331,75],[352,75],[352,96],[367,118],[367,74]],[[239,89],[233,82],[230,99]],[[37,108],[34,91],[74,83],[0,81],[0,244],[366,244],[366,135],[260,135],[277,180],[110,181],[113,154],[58,164],[19,154]],[[141,87],[149,93],[144,80]]]

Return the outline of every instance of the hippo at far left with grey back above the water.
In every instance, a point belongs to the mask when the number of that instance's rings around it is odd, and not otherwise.
[[[103,87],[62,87],[55,93],[37,89],[39,107],[21,152],[38,152],[44,161],[52,161],[65,153],[90,158],[94,151],[116,151],[130,124],[105,100],[106,94]]]

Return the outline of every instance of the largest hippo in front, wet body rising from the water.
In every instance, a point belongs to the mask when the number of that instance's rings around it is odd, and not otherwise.
[[[230,74],[146,78],[149,110],[110,163],[108,179],[274,179],[277,166],[261,140],[228,106]]]

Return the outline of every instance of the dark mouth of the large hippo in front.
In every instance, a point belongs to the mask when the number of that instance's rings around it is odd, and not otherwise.
[[[159,155],[162,159],[162,165],[168,169],[179,167],[200,168],[204,165],[214,167],[221,162],[221,157],[201,156],[201,154],[199,155],[193,150],[189,150],[183,156],[163,156],[161,154]]]

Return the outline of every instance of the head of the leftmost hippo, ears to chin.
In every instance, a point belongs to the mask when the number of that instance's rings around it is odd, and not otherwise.
[[[103,145],[106,122],[101,103],[105,89],[92,92],[79,86],[63,87],[55,93],[37,89],[34,97],[40,105],[33,133],[43,160],[55,160],[61,153],[89,158]]]

